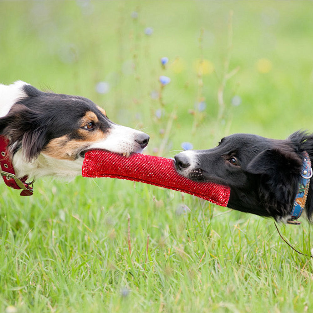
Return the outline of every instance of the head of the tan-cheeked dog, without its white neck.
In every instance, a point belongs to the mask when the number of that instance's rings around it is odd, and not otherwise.
[[[26,83],[20,88],[23,96],[0,119],[0,134],[9,138],[10,153],[21,150],[27,162],[40,154],[60,161],[83,160],[90,149],[129,155],[148,144],[147,134],[113,123],[89,99],[45,93]]]

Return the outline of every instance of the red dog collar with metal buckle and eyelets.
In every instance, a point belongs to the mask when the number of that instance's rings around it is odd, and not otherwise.
[[[21,196],[31,196],[33,194],[33,182],[26,182],[28,176],[18,178],[15,176],[12,160],[7,151],[8,138],[0,135],[0,165],[1,176],[8,187],[23,189]]]

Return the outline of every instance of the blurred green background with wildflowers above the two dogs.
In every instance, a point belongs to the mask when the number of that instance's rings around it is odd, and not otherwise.
[[[234,132],[283,139],[312,131],[312,9],[2,1],[0,81],[90,98],[111,120],[147,132],[149,154],[210,148]]]

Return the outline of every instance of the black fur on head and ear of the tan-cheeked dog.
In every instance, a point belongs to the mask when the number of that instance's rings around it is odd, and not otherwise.
[[[28,161],[36,158],[53,138],[68,134],[71,139],[80,139],[78,122],[87,111],[97,115],[98,127],[104,132],[114,124],[84,97],[46,93],[31,85],[24,85],[23,89],[27,97],[18,100],[9,113],[0,118],[0,134],[10,138],[11,154],[23,146]]]

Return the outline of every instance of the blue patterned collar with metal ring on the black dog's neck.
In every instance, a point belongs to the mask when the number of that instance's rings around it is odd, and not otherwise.
[[[301,216],[303,208],[305,207],[306,197],[308,195],[310,187],[310,178],[313,175],[310,156],[306,151],[302,152],[303,161],[301,168],[301,179],[298,184],[298,191],[295,196],[295,201],[291,211],[291,218],[287,221],[289,224],[299,225],[301,222],[298,222],[297,219]]]

